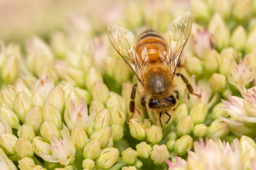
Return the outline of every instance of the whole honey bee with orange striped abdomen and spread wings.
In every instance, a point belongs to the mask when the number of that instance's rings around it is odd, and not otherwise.
[[[169,110],[175,110],[179,100],[179,93],[176,90],[176,78],[181,77],[186,84],[190,94],[195,94],[183,74],[175,73],[180,54],[189,38],[192,27],[192,19],[188,12],[178,16],[169,24],[166,39],[160,33],[147,30],[138,37],[136,43],[134,34],[125,28],[113,25],[108,27],[108,37],[119,53],[128,63],[138,77],[139,82],[135,83],[131,91],[130,119],[135,113],[136,88],[142,94],[141,105],[149,108],[161,116]]]

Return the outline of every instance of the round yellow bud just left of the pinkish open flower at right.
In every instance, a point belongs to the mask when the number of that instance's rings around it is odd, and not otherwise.
[[[212,90],[216,92],[221,92],[226,88],[227,79],[223,74],[214,73],[212,77],[209,79],[209,83],[211,85]]]

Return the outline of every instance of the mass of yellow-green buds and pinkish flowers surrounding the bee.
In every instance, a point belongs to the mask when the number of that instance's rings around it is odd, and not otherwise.
[[[177,108],[161,127],[137,91],[127,123],[137,77],[107,27],[163,33],[187,7],[192,31],[176,72],[201,97],[177,77]],[[0,169],[256,169],[255,11],[255,0],[130,0],[72,15],[49,44],[30,37],[24,57],[0,41]]]

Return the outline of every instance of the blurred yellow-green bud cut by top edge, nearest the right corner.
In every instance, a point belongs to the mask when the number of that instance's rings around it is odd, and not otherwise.
[[[233,18],[238,22],[247,20],[252,12],[251,5],[251,0],[234,1],[232,9]]]

